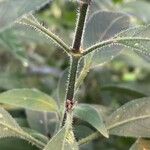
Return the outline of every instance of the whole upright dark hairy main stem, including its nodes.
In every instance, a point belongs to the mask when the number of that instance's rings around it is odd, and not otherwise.
[[[64,124],[67,115],[72,115],[72,109],[74,106],[74,93],[75,93],[75,83],[76,83],[76,76],[78,70],[78,64],[81,58],[81,41],[83,36],[83,30],[86,22],[86,16],[88,11],[89,4],[79,2],[79,16],[77,19],[77,26],[75,30],[75,37],[72,46],[72,53],[70,56],[70,70],[68,76],[68,86],[66,92],[66,104],[65,104],[65,111],[63,114],[63,121],[62,125]],[[78,55],[79,54],[79,55]],[[72,122],[71,122],[72,123]]]

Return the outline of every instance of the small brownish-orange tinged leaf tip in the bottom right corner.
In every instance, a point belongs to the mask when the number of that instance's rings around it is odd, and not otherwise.
[[[130,148],[130,150],[149,150],[150,140],[139,138]]]

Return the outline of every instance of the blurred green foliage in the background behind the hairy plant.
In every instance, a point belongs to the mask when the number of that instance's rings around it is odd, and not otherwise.
[[[150,22],[149,0],[95,0],[90,9],[91,13],[100,9],[128,12],[134,16],[132,22],[136,25]],[[75,3],[55,0],[38,11],[36,17],[44,26],[51,28],[71,45],[77,11]],[[37,88],[58,100],[58,81],[63,70],[68,66],[68,58],[63,59],[64,57],[65,55],[59,52],[59,48],[51,46],[48,40],[44,40],[44,37],[42,39],[31,29],[14,25],[13,28],[0,33],[0,91],[13,88]],[[78,99],[79,102],[104,104],[108,108],[113,106],[112,109],[115,109],[132,99],[150,95],[149,77],[149,60],[139,58],[135,52],[125,50],[113,61],[92,68],[78,92]],[[26,122],[28,127],[49,137],[54,134],[54,129],[47,131],[50,125],[57,125],[53,114],[37,114],[9,106],[5,107],[14,117],[17,114],[17,118],[23,117],[25,121],[28,121]],[[33,114],[37,116],[33,117]],[[42,119],[39,119],[40,115]],[[33,119],[37,121],[36,125]],[[77,120],[78,123],[80,124],[80,121]],[[43,129],[41,129],[41,124],[42,126],[44,124]],[[79,126],[75,129],[77,138],[83,136],[78,135],[78,128]],[[83,129],[83,134],[93,131],[95,129],[88,125]],[[111,136],[109,140],[101,137],[88,145],[83,145],[82,149],[127,150],[134,141],[134,139],[116,136]],[[0,140],[0,149],[12,149],[12,145],[9,147],[8,143],[13,143],[15,150],[19,148],[16,145],[20,144],[21,149],[36,149],[16,139]]]

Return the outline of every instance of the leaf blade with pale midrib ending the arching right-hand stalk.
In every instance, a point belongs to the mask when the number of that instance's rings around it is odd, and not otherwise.
[[[150,25],[125,30],[114,38],[114,43],[132,49],[138,55],[150,60]]]

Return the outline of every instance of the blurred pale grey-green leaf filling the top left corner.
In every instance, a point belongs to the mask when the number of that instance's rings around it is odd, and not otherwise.
[[[0,30],[10,26],[14,21],[31,11],[38,10],[50,0],[1,0]]]

